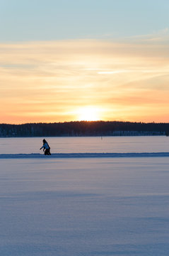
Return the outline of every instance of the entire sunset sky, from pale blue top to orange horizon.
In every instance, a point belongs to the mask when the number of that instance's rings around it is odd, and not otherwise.
[[[0,123],[169,122],[168,0],[0,0]]]

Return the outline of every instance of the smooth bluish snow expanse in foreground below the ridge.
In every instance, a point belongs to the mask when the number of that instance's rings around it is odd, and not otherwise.
[[[1,159],[0,255],[168,255],[168,166],[168,157]]]

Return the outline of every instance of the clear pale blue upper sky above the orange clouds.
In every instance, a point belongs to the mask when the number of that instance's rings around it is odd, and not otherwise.
[[[168,27],[168,0],[0,0],[0,41],[125,38]]]

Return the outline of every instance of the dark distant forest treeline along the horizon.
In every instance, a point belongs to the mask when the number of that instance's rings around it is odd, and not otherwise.
[[[0,124],[0,137],[148,136],[169,135],[169,123],[59,122]]]

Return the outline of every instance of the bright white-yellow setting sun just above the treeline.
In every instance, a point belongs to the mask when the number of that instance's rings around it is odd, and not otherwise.
[[[97,107],[81,107],[77,111],[78,121],[97,121],[100,119],[100,110]]]

